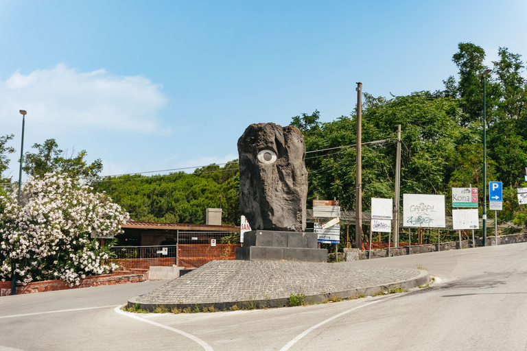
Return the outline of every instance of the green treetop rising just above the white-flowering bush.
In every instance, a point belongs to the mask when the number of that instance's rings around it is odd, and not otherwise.
[[[97,158],[91,164],[86,161],[86,150],[74,156],[75,151],[68,156],[67,152],[58,148],[55,139],[47,139],[42,145],[33,145],[37,152],[26,152],[23,170],[27,175],[41,178],[46,173],[66,173],[69,178],[82,179],[92,184],[97,179],[97,174],[102,171],[102,160]]]

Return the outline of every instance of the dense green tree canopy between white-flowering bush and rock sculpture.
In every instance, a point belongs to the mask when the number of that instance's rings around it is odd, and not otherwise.
[[[237,162],[209,165],[194,174],[121,175],[95,185],[135,221],[205,223],[207,208],[222,208],[222,224],[239,225]]]

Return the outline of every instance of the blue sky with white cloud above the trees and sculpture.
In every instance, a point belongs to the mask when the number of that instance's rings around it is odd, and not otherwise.
[[[527,59],[527,3],[0,0],[0,135],[55,138],[102,175],[237,158],[251,123],[442,89],[460,42]],[[4,175],[18,178],[19,156]]]

